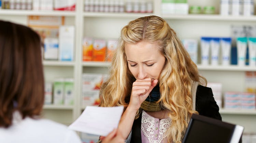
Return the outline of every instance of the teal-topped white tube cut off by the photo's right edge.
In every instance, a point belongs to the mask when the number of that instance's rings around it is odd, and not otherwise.
[[[256,37],[248,38],[249,65],[256,66]]]

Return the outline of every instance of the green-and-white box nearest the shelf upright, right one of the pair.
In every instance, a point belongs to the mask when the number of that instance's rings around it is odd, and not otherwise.
[[[74,105],[74,79],[66,78],[64,82],[64,104]]]

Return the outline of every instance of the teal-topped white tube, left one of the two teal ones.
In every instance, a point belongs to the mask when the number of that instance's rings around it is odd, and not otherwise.
[[[238,66],[245,65],[245,56],[246,56],[246,47],[247,47],[247,38],[238,37],[237,38],[237,64]]]

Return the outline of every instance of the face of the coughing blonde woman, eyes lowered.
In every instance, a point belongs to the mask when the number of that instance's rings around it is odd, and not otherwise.
[[[136,79],[159,78],[165,65],[165,57],[160,54],[157,47],[157,43],[144,41],[125,44],[128,67]]]

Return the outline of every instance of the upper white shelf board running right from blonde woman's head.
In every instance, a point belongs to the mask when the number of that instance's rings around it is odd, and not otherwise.
[[[187,15],[162,15],[164,19],[179,20],[218,20],[218,21],[256,21],[256,16],[223,16],[218,14],[187,14]]]

